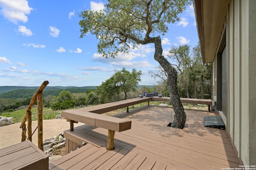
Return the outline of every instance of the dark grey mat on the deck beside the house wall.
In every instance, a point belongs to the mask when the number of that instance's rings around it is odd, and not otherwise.
[[[225,124],[220,116],[204,117],[204,126],[216,129],[225,129]]]

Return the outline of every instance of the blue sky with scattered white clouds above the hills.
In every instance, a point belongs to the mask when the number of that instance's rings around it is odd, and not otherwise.
[[[0,86],[99,86],[114,69],[142,70],[140,85],[155,85],[148,74],[159,64],[154,44],[140,45],[129,54],[105,59],[97,39],[80,37],[84,10],[104,8],[102,0],[0,0]],[[194,8],[187,6],[181,20],[161,36],[164,55],[174,45],[198,43]]]

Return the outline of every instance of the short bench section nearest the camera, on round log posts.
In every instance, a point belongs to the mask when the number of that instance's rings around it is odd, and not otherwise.
[[[66,110],[61,112],[62,117],[70,121],[70,131],[74,131],[74,124],[76,122],[85,123],[95,127],[108,129],[108,150],[114,149],[114,133],[115,131],[122,132],[131,129],[132,121],[82,111],[79,109]]]

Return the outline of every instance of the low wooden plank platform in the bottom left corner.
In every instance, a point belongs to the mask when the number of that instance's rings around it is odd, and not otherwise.
[[[0,170],[48,170],[49,157],[31,141],[0,149]]]

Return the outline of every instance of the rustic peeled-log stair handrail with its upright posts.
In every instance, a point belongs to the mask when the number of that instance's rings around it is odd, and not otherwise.
[[[43,146],[43,90],[44,88],[49,84],[48,81],[44,81],[42,85],[36,90],[35,94],[32,96],[31,102],[28,106],[28,109],[26,111],[26,114],[23,118],[23,121],[20,125],[20,128],[22,129],[22,139],[21,141],[26,141],[26,139],[30,140],[32,142],[32,135],[38,129],[38,148],[41,150],[44,150]],[[36,102],[37,101],[37,102]],[[32,133],[32,112],[31,108],[33,107],[34,103],[36,102],[37,105],[37,122],[38,126]],[[28,137],[26,136],[26,121],[28,119]]]

